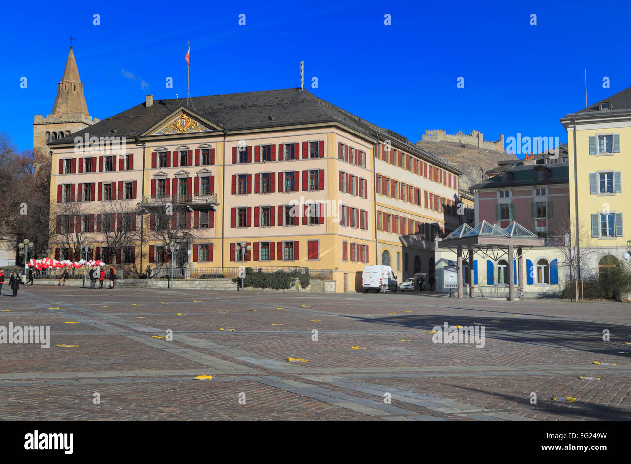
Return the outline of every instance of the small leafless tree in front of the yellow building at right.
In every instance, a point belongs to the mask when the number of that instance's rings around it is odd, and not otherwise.
[[[551,244],[562,254],[559,266],[570,272],[570,278],[574,280],[576,301],[578,301],[579,284],[577,279],[586,277],[587,272],[589,272],[588,263],[597,253],[597,249],[592,243],[591,227],[586,222],[581,221],[577,230],[576,223],[567,218],[560,223],[555,235],[557,235],[557,239],[551,241]]]

